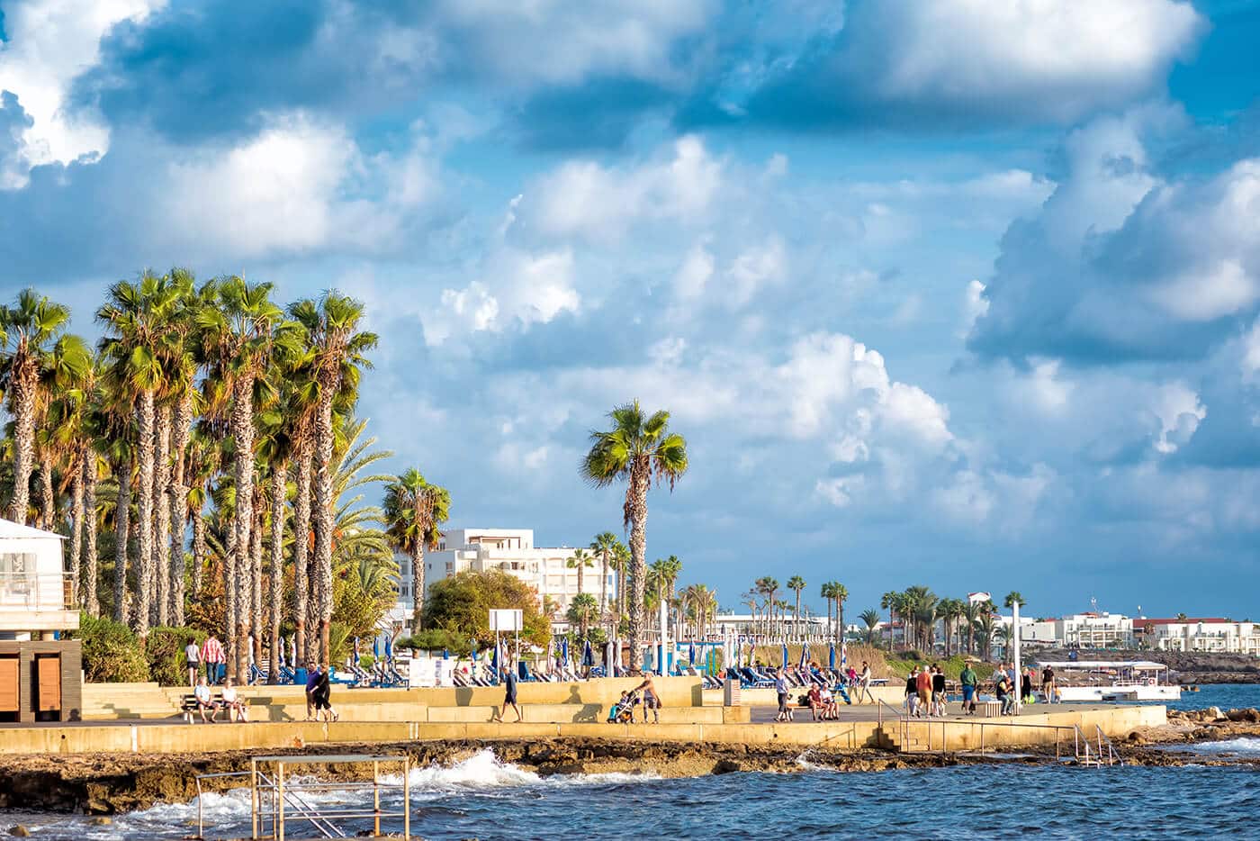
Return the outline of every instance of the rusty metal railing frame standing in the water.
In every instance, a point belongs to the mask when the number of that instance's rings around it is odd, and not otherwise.
[[[295,767],[328,765],[328,764],[372,764],[370,782],[320,782],[305,777],[287,777],[286,772],[292,772]],[[382,764],[396,764],[402,768],[402,780],[398,783],[386,782],[381,777]],[[267,774],[262,767],[273,765],[273,772]],[[346,821],[369,821],[374,836],[381,835],[382,818],[402,818],[402,837],[411,838],[411,758],[407,755],[290,755],[290,757],[255,757],[249,760],[249,770],[222,772],[217,774],[197,775],[197,835],[205,837],[205,820],[202,803],[202,780],[219,779],[226,777],[249,778],[249,837],[273,838],[284,841],[289,825],[294,822],[306,823],[325,838],[344,838],[359,835],[353,827],[344,828]],[[383,809],[381,807],[382,793],[401,789],[402,808]],[[318,803],[311,794],[330,793],[346,794],[354,792],[372,792],[370,807],[357,807],[345,802]]]

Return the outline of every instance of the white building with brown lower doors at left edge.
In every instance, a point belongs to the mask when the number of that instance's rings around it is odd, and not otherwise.
[[[82,709],[82,643],[62,536],[0,519],[0,721],[69,721]]]

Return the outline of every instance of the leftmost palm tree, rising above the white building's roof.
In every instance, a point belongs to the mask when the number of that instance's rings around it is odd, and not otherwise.
[[[18,293],[14,305],[0,306],[0,376],[9,396],[14,421],[13,499],[9,517],[26,523],[30,508],[30,474],[35,463],[35,412],[40,374],[48,357],[62,342],[71,311],[62,304],[39,295],[34,289]],[[63,357],[74,356],[76,342],[68,342]],[[82,340],[77,344],[82,347]],[[83,348],[82,367],[87,367]]]

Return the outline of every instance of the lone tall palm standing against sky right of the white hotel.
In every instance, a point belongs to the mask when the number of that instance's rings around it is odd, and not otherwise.
[[[630,668],[643,664],[644,571],[648,551],[648,488],[653,478],[670,490],[687,473],[687,440],[669,431],[669,412],[644,416],[635,400],[609,412],[612,429],[591,432],[582,477],[596,487],[626,482],[624,523],[630,528]]]

